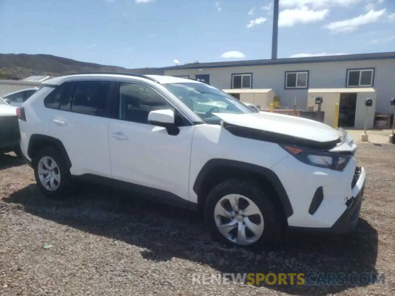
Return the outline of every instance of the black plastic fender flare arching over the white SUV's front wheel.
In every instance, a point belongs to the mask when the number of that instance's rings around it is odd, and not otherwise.
[[[292,216],[293,209],[290,199],[288,197],[287,192],[284,189],[284,186],[282,185],[280,179],[275,174],[275,172],[273,172],[273,170],[271,169],[261,167],[259,165],[254,165],[252,163],[245,163],[243,161],[220,159],[220,158],[210,159],[209,161],[207,161],[207,163],[205,163],[205,165],[203,165],[203,167],[201,168],[193,185],[193,190],[198,195],[198,197],[200,196],[200,191],[202,185],[206,181],[206,177],[209,176],[210,171],[215,169],[216,167],[228,167],[229,169],[248,170],[250,172],[263,175],[273,185],[273,188],[275,189],[278,198],[280,199],[286,217],[288,218]]]

